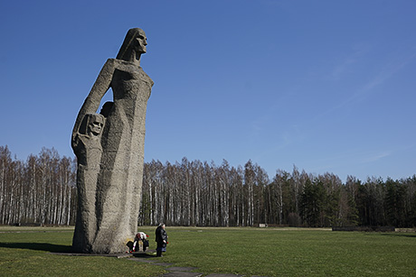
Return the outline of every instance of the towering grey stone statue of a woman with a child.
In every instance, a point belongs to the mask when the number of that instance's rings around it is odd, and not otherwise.
[[[76,252],[125,252],[137,233],[147,99],[154,84],[140,67],[146,46],[143,30],[128,30],[117,58],[104,64],[75,121],[71,145],[78,160],[72,239]],[[109,88],[114,100],[97,114]]]

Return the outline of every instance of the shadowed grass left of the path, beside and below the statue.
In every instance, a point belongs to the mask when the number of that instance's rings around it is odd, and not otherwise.
[[[10,233],[19,232],[19,233]],[[72,228],[0,227],[0,276],[157,276],[161,266],[103,256],[68,256]]]

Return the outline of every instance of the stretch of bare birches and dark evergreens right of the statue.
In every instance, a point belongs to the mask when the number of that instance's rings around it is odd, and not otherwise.
[[[364,182],[257,163],[147,162],[139,224],[177,226],[416,226],[416,175]]]

